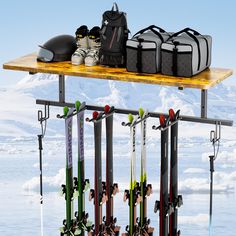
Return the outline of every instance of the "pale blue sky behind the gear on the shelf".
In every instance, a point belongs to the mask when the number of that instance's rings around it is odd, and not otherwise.
[[[25,72],[2,69],[4,62],[38,50],[39,44],[60,35],[74,35],[86,24],[101,25],[102,14],[112,7],[111,0],[1,0],[0,1],[0,88],[14,86]],[[155,24],[167,31],[192,27],[213,37],[212,66],[236,69],[235,0],[117,0],[128,15],[134,35]],[[227,83],[236,84],[235,76]]]

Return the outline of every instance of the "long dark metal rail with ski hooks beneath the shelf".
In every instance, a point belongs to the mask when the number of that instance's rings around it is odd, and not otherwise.
[[[53,107],[64,107],[64,106],[74,107],[75,106],[74,103],[42,100],[42,99],[37,99],[36,104],[44,105],[44,106],[53,106]],[[89,110],[89,111],[103,111],[104,107],[95,106],[95,105],[86,105],[85,109]],[[138,110],[123,109],[123,108],[115,108],[114,113],[123,114],[123,115],[128,115],[129,113],[131,113],[132,115],[138,115],[139,111]],[[168,114],[163,114],[163,113],[159,113],[159,112],[149,112],[148,114],[152,118],[159,118],[160,115],[164,115],[165,117],[168,117]],[[181,118],[181,121],[186,121],[186,122],[212,124],[212,125],[221,124],[221,126],[229,126],[229,127],[233,126],[232,120],[222,120],[222,119],[196,117],[196,116],[185,116],[185,115],[181,115],[180,118]]]

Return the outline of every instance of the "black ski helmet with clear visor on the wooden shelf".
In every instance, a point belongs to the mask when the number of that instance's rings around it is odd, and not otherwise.
[[[77,49],[76,39],[71,35],[53,37],[39,47],[37,60],[42,62],[70,61]]]

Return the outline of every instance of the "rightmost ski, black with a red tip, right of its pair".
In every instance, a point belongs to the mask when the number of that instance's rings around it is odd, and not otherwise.
[[[169,236],[179,236],[178,230],[178,208],[183,204],[181,195],[178,195],[178,110],[176,113],[173,109],[169,110],[171,122],[171,144],[170,144],[170,203],[174,211],[169,216]]]

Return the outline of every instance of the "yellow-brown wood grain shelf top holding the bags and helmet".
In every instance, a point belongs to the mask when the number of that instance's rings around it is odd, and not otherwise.
[[[3,65],[3,68],[32,73],[61,74],[197,89],[209,89],[233,74],[233,70],[222,68],[210,68],[191,78],[165,76],[162,74],[139,74],[127,72],[125,68],[75,66],[72,65],[70,61],[50,63],[37,62],[36,53],[7,62]]]

